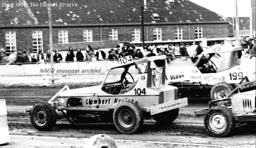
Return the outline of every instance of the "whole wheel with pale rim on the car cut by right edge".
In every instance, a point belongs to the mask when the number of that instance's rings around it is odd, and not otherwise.
[[[234,115],[227,107],[212,107],[204,117],[204,126],[214,137],[228,136],[235,127]]]

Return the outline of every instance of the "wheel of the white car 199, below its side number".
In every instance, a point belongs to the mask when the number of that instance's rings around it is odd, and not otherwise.
[[[233,87],[226,82],[217,83],[211,89],[211,99],[224,99],[228,97],[228,94],[232,92],[232,90],[234,90]]]

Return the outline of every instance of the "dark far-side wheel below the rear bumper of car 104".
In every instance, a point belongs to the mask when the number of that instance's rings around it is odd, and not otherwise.
[[[179,115],[179,109],[173,109],[170,111],[165,111],[163,113],[158,113],[153,115],[153,119],[160,124],[170,124],[172,123]]]

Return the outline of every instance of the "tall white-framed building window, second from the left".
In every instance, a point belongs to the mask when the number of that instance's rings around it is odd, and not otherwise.
[[[38,53],[38,51],[43,52],[43,32],[42,31],[33,31],[33,53]]]

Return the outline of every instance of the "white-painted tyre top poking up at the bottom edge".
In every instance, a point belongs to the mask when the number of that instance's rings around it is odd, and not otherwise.
[[[84,148],[118,148],[114,139],[106,134],[92,136],[84,145]]]

